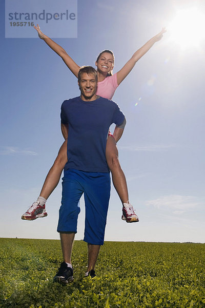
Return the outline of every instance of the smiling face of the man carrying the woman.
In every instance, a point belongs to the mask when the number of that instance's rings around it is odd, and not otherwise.
[[[97,82],[94,74],[83,73],[81,79],[78,82],[81,99],[83,101],[94,101],[96,100]]]

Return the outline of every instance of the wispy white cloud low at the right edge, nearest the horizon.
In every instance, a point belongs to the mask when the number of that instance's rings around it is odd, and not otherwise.
[[[182,214],[187,210],[201,206],[203,202],[204,200],[193,196],[169,195],[149,200],[146,205],[154,206],[158,209],[172,209],[173,213]]]

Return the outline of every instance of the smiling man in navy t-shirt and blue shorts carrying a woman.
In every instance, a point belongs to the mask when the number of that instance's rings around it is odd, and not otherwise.
[[[78,203],[83,193],[86,207],[84,241],[88,243],[85,276],[95,276],[94,267],[100,245],[104,243],[110,199],[110,174],[106,162],[108,131],[115,123],[113,136],[118,141],[126,124],[116,103],[96,95],[97,73],[93,67],[79,70],[78,85],[80,97],[64,101],[60,114],[62,132],[69,140],[57,226],[64,262],[54,277],[54,281],[61,283],[73,281],[71,252],[80,212]]]

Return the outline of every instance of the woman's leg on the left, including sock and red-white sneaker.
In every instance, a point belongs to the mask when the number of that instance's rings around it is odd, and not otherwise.
[[[37,198],[36,202],[29,207],[26,213],[22,215],[22,219],[34,220],[38,217],[47,216],[45,208],[46,199],[48,199],[52,191],[57,186],[67,161],[67,140],[65,140],[59,149],[58,156],[55,159],[53,166],[48,172],[42,190],[40,191],[40,196]]]

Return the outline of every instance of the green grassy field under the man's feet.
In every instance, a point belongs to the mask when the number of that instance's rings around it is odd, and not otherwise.
[[[53,283],[60,241],[0,239],[0,307],[205,307],[205,244],[106,242],[94,279],[73,247],[74,282]]]

